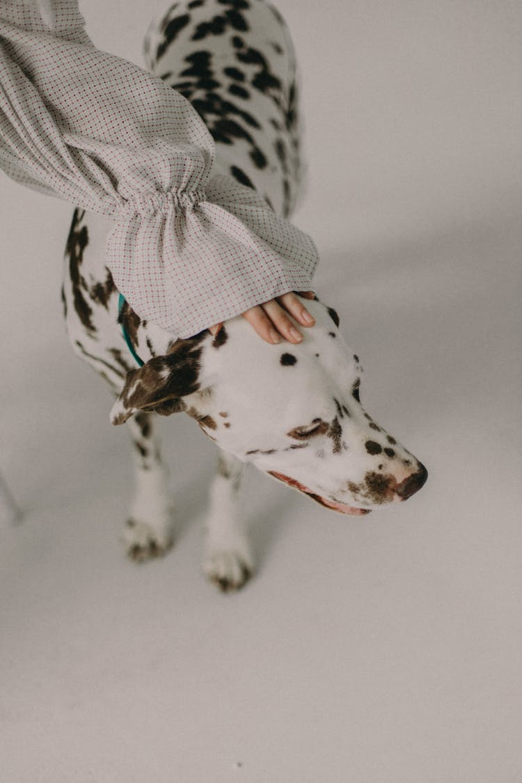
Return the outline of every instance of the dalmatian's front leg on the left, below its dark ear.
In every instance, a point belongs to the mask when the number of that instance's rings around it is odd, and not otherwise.
[[[172,546],[171,507],[153,416],[140,411],[127,426],[134,446],[135,496],[123,538],[128,556],[142,562]]]

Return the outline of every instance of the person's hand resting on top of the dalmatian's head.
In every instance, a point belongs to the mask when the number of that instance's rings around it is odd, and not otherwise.
[[[298,294],[305,299],[315,297],[313,291],[298,291]],[[293,291],[265,301],[262,305],[251,307],[250,310],[243,312],[243,318],[247,319],[265,342],[274,345],[281,342],[281,337],[284,337],[289,342],[299,343],[302,341],[303,335],[294,327],[286,313],[290,313],[290,316],[296,319],[297,323],[301,323],[303,327],[313,327],[315,323],[315,318],[311,316]],[[209,331],[216,335],[222,326],[223,323],[215,323],[213,327],[209,328]]]

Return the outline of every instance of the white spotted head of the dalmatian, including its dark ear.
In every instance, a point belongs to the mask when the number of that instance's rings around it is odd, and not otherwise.
[[[306,305],[315,326],[298,345],[268,345],[240,316],[216,337],[205,330],[176,341],[128,373],[113,424],[137,410],[183,410],[221,449],[334,511],[406,500],[426,468],[363,409],[362,366],[337,313]]]

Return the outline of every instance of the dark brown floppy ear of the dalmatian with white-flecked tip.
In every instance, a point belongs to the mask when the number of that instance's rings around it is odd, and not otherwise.
[[[130,370],[110,412],[111,424],[124,424],[137,410],[169,416],[184,410],[183,397],[201,388],[200,339],[178,340],[164,356]]]

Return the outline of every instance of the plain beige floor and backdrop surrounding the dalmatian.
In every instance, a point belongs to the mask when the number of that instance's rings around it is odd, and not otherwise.
[[[166,5],[81,7],[97,45],[141,65]],[[522,780],[522,10],[279,8],[303,76],[295,222],[319,244],[368,409],[429,482],[354,521],[249,474],[260,569],[221,597],[189,525],[214,450],[173,417],[177,547],[128,564],[126,434],[63,336],[72,210],[0,179],[0,468],[26,511],[0,531],[13,783]]]

